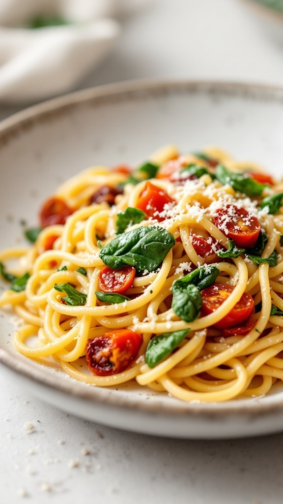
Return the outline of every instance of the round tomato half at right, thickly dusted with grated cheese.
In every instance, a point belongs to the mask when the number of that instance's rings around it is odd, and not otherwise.
[[[260,222],[244,208],[227,205],[216,210],[214,223],[220,231],[231,238],[238,247],[255,245],[260,232]]]

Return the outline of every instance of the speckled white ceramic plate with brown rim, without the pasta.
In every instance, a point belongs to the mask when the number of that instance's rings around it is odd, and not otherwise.
[[[1,247],[21,242],[20,220],[36,223],[58,183],[95,163],[137,163],[176,143],[215,144],[283,174],[283,89],[216,83],[131,83],[58,98],[0,127]],[[4,284],[2,284],[4,287]],[[124,429],[188,438],[251,436],[283,430],[283,387],[259,399],[190,404],[135,384],[116,389],[76,383],[15,353],[11,313],[0,316],[1,369],[65,411]]]

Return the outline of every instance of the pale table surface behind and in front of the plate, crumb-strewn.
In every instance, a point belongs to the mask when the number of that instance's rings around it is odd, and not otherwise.
[[[239,0],[154,0],[124,22],[115,50],[81,87],[137,78],[282,85],[282,60],[283,47]],[[0,118],[19,108],[2,106]],[[283,500],[283,434],[198,442],[127,433],[47,406],[20,381],[0,375],[0,384],[1,504]]]

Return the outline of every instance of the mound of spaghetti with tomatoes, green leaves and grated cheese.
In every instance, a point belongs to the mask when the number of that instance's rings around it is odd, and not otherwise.
[[[136,380],[183,401],[283,380],[283,183],[209,148],[62,184],[0,252],[16,349],[99,387]]]

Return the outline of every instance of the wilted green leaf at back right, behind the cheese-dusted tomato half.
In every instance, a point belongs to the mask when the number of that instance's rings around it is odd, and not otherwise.
[[[223,185],[229,184],[235,191],[240,191],[247,196],[260,196],[264,188],[268,187],[268,185],[260,184],[242,173],[229,171],[223,164],[217,165],[215,175]]]

